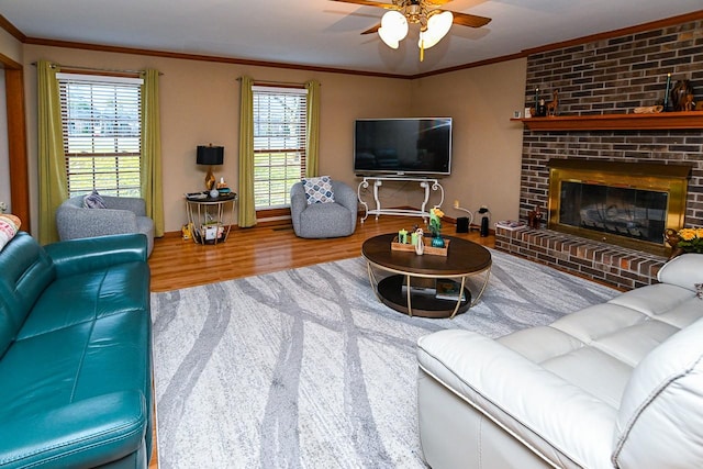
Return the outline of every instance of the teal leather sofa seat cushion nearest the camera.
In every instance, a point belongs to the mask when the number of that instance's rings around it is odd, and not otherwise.
[[[0,393],[0,421],[148,389],[146,317],[133,311],[18,338],[0,360],[0,375],[13,376]]]

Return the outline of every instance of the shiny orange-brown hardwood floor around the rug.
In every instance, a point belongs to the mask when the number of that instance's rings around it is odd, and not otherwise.
[[[348,237],[333,239],[303,239],[295,236],[290,223],[257,225],[232,230],[225,243],[199,245],[182,239],[179,234],[167,234],[154,242],[149,257],[152,291],[177,290],[187,287],[257,276],[278,270],[311,266],[361,255],[361,244],[369,237],[422,226],[417,216],[369,216],[357,225]],[[494,247],[495,237],[480,237],[478,231],[456,234],[455,225],[443,224],[443,233],[462,237],[483,246]],[[158,448],[154,435],[154,455],[149,469],[158,468]]]

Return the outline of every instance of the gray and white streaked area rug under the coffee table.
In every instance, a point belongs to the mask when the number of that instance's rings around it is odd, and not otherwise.
[[[491,253],[483,298],[454,320],[383,305],[361,258],[154,293],[160,467],[424,468],[419,337],[498,337],[617,294]]]

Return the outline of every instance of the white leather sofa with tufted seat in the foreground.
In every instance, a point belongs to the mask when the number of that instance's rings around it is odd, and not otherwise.
[[[496,340],[422,337],[426,462],[703,468],[703,255],[674,258],[658,280]]]

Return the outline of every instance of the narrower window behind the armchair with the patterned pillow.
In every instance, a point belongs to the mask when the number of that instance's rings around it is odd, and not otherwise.
[[[305,174],[308,91],[255,86],[253,94],[255,208],[288,206]]]

